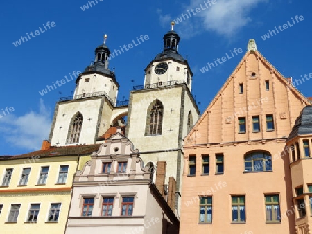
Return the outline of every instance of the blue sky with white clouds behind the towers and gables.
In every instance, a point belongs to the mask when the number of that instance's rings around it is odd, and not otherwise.
[[[248,39],[256,40],[261,54],[284,76],[300,79],[312,72],[310,1],[216,0],[211,6],[207,2],[94,0],[90,7],[87,0],[3,1],[0,155],[40,148],[42,140],[49,136],[55,102],[60,96],[71,96],[75,83],[62,84],[43,96],[39,91],[73,71],[83,71],[94,60],[94,49],[102,44],[105,33],[111,51],[141,35],[149,38],[110,60],[110,68],[115,69],[121,85],[119,100],[128,99],[133,85],[144,83],[144,69],[162,51],[162,37],[170,30],[170,22],[188,11],[191,16],[181,18],[175,31],[182,38],[179,53],[188,57],[193,71],[192,93],[201,112],[245,54]],[[86,4],[89,9],[83,7]],[[196,12],[196,8],[200,10]],[[294,24],[296,15],[302,15],[303,20]],[[287,21],[292,26],[262,38]],[[27,37],[27,33],[31,39],[17,45],[16,41]],[[200,71],[207,62],[234,48],[241,48],[243,53],[205,73]],[[312,96],[311,87],[312,79],[297,89]]]

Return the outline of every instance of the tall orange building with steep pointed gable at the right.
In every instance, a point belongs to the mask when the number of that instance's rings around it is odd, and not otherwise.
[[[311,118],[250,40],[184,138],[180,233],[311,233]]]

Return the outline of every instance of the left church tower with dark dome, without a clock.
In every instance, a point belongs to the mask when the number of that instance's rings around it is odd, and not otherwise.
[[[94,62],[76,79],[74,95],[60,98],[55,107],[49,141],[51,145],[94,144],[111,125],[119,84],[108,68],[110,49],[95,49]]]

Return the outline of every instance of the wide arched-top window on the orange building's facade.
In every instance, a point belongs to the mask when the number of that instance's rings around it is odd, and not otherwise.
[[[252,152],[245,156],[245,172],[272,171],[272,156],[265,152]]]

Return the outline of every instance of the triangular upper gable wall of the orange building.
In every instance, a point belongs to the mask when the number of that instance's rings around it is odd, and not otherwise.
[[[189,132],[184,146],[285,138],[306,105],[311,102],[259,51],[248,51]],[[265,131],[268,114],[275,120],[273,132]],[[261,120],[259,134],[252,132],[252,116]],[[239,117],[246,118],[246,134],[238,133]]]

